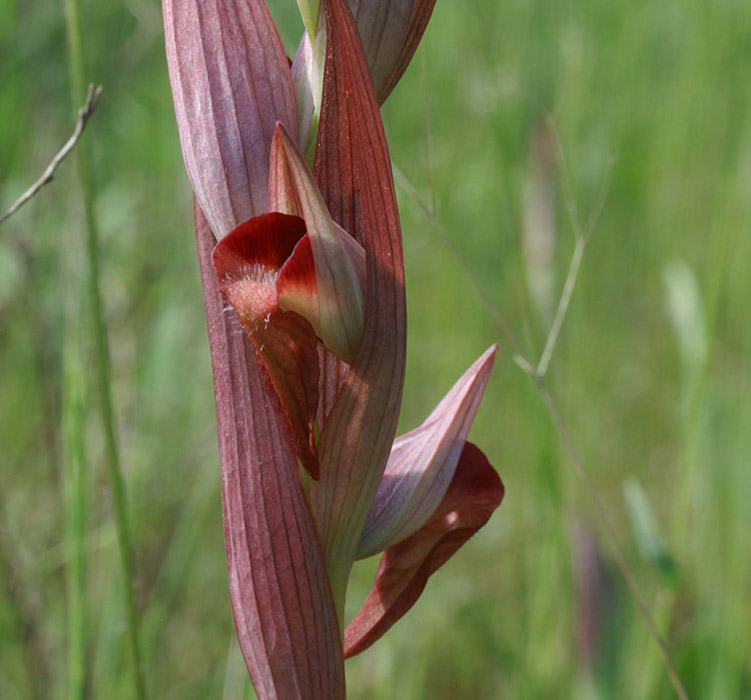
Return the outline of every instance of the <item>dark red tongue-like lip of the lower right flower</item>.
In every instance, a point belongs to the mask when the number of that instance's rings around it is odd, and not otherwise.
[[[345,631],[345,658],[367,649],[415,604],[430,576],[488,521],[503,493],[485,455],[466,443],[433,517],[384,553],[373,588]]]

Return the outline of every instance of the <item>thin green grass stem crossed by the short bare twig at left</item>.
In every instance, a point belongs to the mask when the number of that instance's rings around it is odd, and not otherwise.
[[[86,92],[84,79],[83,41],[81,36],[81,16],[78,0],[65,0],[65,23],[68,34],[68,60],[71,75],[73,103],[79,104]],[[112,490],[112,505],[115,528],[120,552],[123,587],[125,593],[125,613],[128,638],[133,660],[133,681],[136,697],[146,698],[146,683],[140,646],[139,617],[133,591],[133,563],[131,555],[131,535],[128,522],[125,484],[123,481],[120,456],[115,435],[114,411],[110,383],[110,357],[107,344],[107,328],[99,283],[99,232],[94,214],[94,187],[91,175],[91,162],[85,141],[79,145],[77,153],[78,176],[81,183],[84,218],[86,224],[86,257],[88,277],[86,296],[90,304],[90,315],[94,336],[94,364],[96,371],[99,410],[104,430],[105,461],[109,472]]]

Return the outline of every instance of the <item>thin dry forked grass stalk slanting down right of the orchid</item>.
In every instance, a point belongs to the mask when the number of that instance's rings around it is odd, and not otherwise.
[[[623,549],[618,543],[618,540],[615,534],[615,529],[610,523],[610,519],[608,518],[605,504],[602,502],[602,499],[597,493],[597,490],[595,489],[594,484],[592,483],[592,480],[589,478],[589,474],[584,467],[584,463],[581,457],[579,456],[579,452],[576,449],[576,446],[574,445],[574,441],[571,437],[571,434],[569,433],[568,428],[566,427],[566,424],[563,421],[563,418],[561,417],[561,414],[558,411],[558,407],[553,401],[553,397],[551,396],[550,391],[548,390],[548,386],[545,382],[545,370],[547,370],[547,366],[550,361],[550,356],[552,356],[553,349],[555,347],[556,338],[560,331],[560,327],[563,323],[563,319],[565,317],[566,310],[568,308],[569,301],[571,299],[571,293],[573,292],[573,288],[576,283],[576,278],[577,278],[578,271],[579,271],[579,266],[581,265],[581,258],[584,254],[584,249],[586,247],[587,240],[592,234],[592,230],[594,229],[594,226],[597,222],[600,211],[602,210],[602,207],[604,205],[605,198],[607,196],[608,188],[610,186],[611,170],[612,170],[612,163],[611,163],[611,169],[608,170],[608,175],[606,176],[605,181],[603,182],[603,186],[600,190],[600,196],[598,197],[597,204],[595,205],[592,215],[589,217],[589,221],[587,222],[587,227],[584,231],[581,230],[581,226],[579,225],[578,216],[576,212],[576,205],[574,204],[573,198],[571,197],[571,190],[570,190],[568,181],[566,181],[567,206],[569,208],[569,213],[571,214],[574,229],[576,231],[577,245],[576,245],[576,249],[574,250],[574,258],[571,261],[571,266],[569,268],[569,274],[566,280],[566,284],[564,286],[563,294],[558,304],[558,311],[556,312],[556,318],[553,322],[553,327],[551,328],[550,335],[548,336],[548,342],[546,343],[546,351],[543,353],[543,360],[545,360],[545,362],[543,363],[542,360],[540,362],[540,367],[543,371],[540,371],[539,369],[536,370],[534,368],[534,365],[532,365],[532,363],[526,358],[526,356],[522,352],[521,346],[516,336],[514,335],[514,332],[511,330],[511,327],[506,322],[503,314],[495,306],[495,304],[493,304],[487,292],[484,290],[480,282],[474,276],[471,268],[467,264],[467,261],[464,260],[461,252],[453,244],[450,236],[446,232],[446,229],[443,227],[443,224],[435,215],[435,212],[433,211],[433,209],[420,196],[417,189],[407,179],[404,173],[401,170],[399,170],[396,166],[394,166],[394,174],[396,175],[397,182],[399,183],[401,187],[403,187],[406,190],[407,194],[409,194],[409,196],[412,197],[412,199],[417,203],[417,205],[423,210],[426,218],[428,219],[430,224],[433,226],[433,229],[439,234],[439,238],[441,239],[443,244],[449,249],[451,255],[456,259],[456,261],[459,263],[464,273],[468,276],[470,282],[472,282],[473,286],[479,293],[480,298],[482,299],[483,303],[489,309],[489,311],[491,312],[493,316],[493,319],[496,321],[496,323],[498,324],[498,327],[501,329],[503,336],[506,338],[509,345],[511,345],[512,349],[514,350],[514,353],[515,353],[514,362],[516,362],[516,364],[520,367],[520,369],[525,374],[529,375],[535,387],[537,388],[537,391],[540,394],[540,397],[542,398],[543,403],[545,404],[545,408],[547,409],[548,415],[550,416],[550,420],[555,426],[556,430],[558,431],[558,434],[563,442],[566,452],[568,453],[568,457],[571,463],[574,465],[577,475],[584,482],[584,485],[587,490],[587,494],[589,495],[590,501],[592,502],[597,519],[599,520],[602,526],[603,532],[605,534],[605,539],[608,541],[608,544],[610,545],[610,547],[612,548],[615,554],[615,560],[616,560],[616,563],[618,564],[618,568],[620,569],[623,577],[626,579],[626,583],[628,584],[628,587],[631,590],[631,593],[634,596],[634,599],[636,600],[636,604],[639,608],[639,611],[641,612],[642,617],[644,618],[647,624],[647,627],[649,628],[649,633],[652,636],[655,644],[657,645],[657,648],[660,651],[660,656],[662,657],[662,661],[665,666],[665,670],[667,671],[668,677],[670,678],[670,682],[673,686],[673,690],[675,690],[675,693],[680,700],[688,700],[688,695],[686,694],[686,690],[683,687],[683,683],[681,682],[681,679],[678,676],[677,671],[675,670],[675,666],[670,657],[670,652],[668,651],[665,640],[662,638],[662,635],[660,634],[660,631],[657,628],[657,623],[655,622],[654,616],[652,615],[652,613],[649,610],[649,607],[647,606],[647,602],[646,602],[646,599],[644,598],[644,594],[641,592],[641,589],[639,588],[639,584],[637,583],[636,578],[631,572],[628,562],[626,561],[626,557],[623,553]],[[549,349],[548,349],[548,346],[550,346]]]

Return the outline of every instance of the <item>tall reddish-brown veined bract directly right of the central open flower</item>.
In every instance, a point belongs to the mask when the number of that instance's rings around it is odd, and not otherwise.
[[[311,505],[326,556],[352,561],[381,480],[404,384],[404,259],[383,124],[352,14],[324,0],[326,68],[316,179],[334,220],[366,252],[365,328],[319,440]],[[346,138],[343,135],[347,135]]]

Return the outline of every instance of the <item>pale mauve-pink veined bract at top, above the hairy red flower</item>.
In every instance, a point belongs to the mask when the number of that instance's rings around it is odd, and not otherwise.
[[[289,63],[264,0],[164,0],[185,168],[217,238],[266,211],[276,122],[297,133]]]

